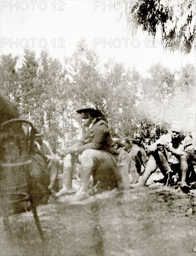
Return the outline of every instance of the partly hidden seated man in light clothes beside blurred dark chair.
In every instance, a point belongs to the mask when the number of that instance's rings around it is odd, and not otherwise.
[[[46,164],[48,167],[48,171],[50,172],[50,184],[48,186],[48,189],[52,191],[52,189],[54,189],[54,182],[59,172],[58,156],[54,155],[54,153],[52,152],[52,148],[49,142],[44,140],[43,133],[37,131],[37,133],[35,134],[35,142],[38,143],[38,149],[46,156]]]

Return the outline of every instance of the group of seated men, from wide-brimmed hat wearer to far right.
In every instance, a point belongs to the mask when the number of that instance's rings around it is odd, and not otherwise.
[[[171,169],[175,169],[180,176],[181,189],[189,190],[186,176],[189,158],[194,154],[195,147],[189,136],[182,135],[179,125],[173,124],[170,134],[161,136],[148,147],[147,160],[141,138],[112,139],[104,115],[93,104],[87,102],[77,113],[82,117],[82,137],[72,147],[61,152],[64,156],[63,186],[56,193],[57,197],[75,193],[73,200],[85,199],[89,196],[91,175],[94,186],[99,183],[101,189],[118,188],[120,195],[124,188],[144,186],[157,167],[164,176],[160,182],[166,183]],[[72,188],[72,178],[78,156],[81,171],[80,189],[76,192]]]

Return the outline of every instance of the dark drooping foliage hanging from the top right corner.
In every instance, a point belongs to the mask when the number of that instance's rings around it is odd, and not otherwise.
[[[130,1],[125,15],[128,31],[136,34],[138,27],[153,37],[160,31],[163,48],[188,54],[195,47],[195,0]]]

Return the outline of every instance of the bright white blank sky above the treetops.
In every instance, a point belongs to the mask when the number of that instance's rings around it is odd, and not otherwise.
[[[150,48],[152,42],[147,45],[148,36],[143,32],[139,32],[137,38],[134,42],[132,41],[131,46],[131,36],[128,36],[125,29],[125,22],[122,20],[118,24],[118,15],[121,10],[116,11],[111,7],[105,7],[103,5],[109,4],[109,1],[93,1],[93,0],[65,0],[59,1],[46,0],[46,1],[3,1],[1,0],[1,54],[19,55],[22,57],[24,48],[21,47],[29,43],[31,47],[33,45],[30,38],[36,38],[34,42],[34,51],[39,57],[40,50],[43,49],[39,46],[38,41],[41,38],[45,38],[47,42],[47,48],[53,57],[58,57],[63,61],[64,56],[69,56],[72,54],[75,44],[82,37],[85,37],[89,47],[94,47],[94,39],[99,38],[100,44],[95,48],[96,52],[99,54],[101,61],[106,61],[108,57],[115,57],[116,61],[124,62],[126,66],[135,65],[135,67],[142,73],[151,63],[161,61],[165,66],[175,69],[190,62],[195,65],[195,53],[192,52],[189,55],[179,54],[178,52],[163,53],[162,47],[160,46],[160,40],[157,38],[157,43],[155,46],[157,48]],[[18,3],[17,3],[18,2]],[[23,3],[22,3],[23,2]],[[33,3],[34,2],[34,10]],[[41,3],[42,2],[42,3]],[[100,4],[94,10],[95,3]],[[22,3],[22,4],[21,4]],[[12,5],[17,4],[19,10]],[[27,8],[27,10],[25,10]],[[39,8],[46,10],[41,11]],[[64,9],[58,11],[57,9]],[[122,7],[124,8],[124,7]],[[22,10],[23,9],[23,10]],[[55,10],[53,10],[55,9]],[[25,38],[26,40],[22,40]],[[65,42],[62,43],[64,39]],[[108,41],[116,40],[116,46],[118,42],[122,42],[121,47],[111,48],[108,44],[103,47],[103,40]],[[127,47],[125,47],[125,40],[123,38],[130,38],[127,41]],[[16,41],[18,39],[19,45],[11,44],[11,40]],[[151,38],[149,38],[150,40]],[[53,42],[51,41],[53,40]],[[144,41],[146,40],[146,41]],[[4,42],[4,44],[2,44]],[[55,42],[55,47],[53,44]],[[44,41],[40,41],[41,45],[44,45]],[[64,48],[57,47],[60,43]],[[139,43],[139,47],[137,46]],[[133,45],[134,44],[134,45]]]

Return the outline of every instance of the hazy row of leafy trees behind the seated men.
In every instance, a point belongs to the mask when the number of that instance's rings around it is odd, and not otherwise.
[[[195,103],[195,68],[190,64],[171,72],[156,63],[142,79],[135,67],[126,69],[114,59],[100,65],[85,39],[65,63],[45,50],[36,59],[30,49],[18,69],[17,60],[11,54],[2,56],[1,92],[16,102],[22,117],[44,132],[54,152],[80,134],[76,109],[85,101],[104,113],[113,136],[140,134],[152,140],[167,133],[179,116],[186,123],[188,108]],[[5,75],[12,79],[7,81]]]

